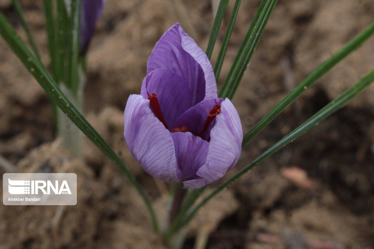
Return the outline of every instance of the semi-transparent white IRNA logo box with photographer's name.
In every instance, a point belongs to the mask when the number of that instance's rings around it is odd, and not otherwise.
[[[76,173],[5,173],[4,205],[76,205]]]

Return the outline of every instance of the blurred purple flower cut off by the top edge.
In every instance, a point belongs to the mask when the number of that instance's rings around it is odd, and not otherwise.
[[[95,31],[105,0],[83,0],[80,14],[80,51],[85,53]]]

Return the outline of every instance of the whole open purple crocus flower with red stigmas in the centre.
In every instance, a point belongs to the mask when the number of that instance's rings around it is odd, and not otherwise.
[[[200,188],[237,162],[243,131],[229,99],[217,98],[212,65],[175,24],[156,43],[140,95],[125,108],[125,140],[154,178]]]

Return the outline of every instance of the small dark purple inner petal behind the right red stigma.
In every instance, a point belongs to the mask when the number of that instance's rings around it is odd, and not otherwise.
[[[204,127],[206,119],[209,116],[209,111],[214,107],[215,104],[221,104],[223,99],[206,99],[201,101],[199,104],[191,107],[174,122],[174,127],[181,128],[187,126],[189,131],[197,136]],[[203,139],[208,139],[210,136],[210,130],[215,124],[215,120],[209,125],[208,130],[204,133]]]

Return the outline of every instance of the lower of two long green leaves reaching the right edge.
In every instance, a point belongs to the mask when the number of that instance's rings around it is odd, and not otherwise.
[[[188,215],[186,216],[186,218],[183,221],[181,221],[181,223],[178,224],[178,226],[176,226],[174,230],[172,230],[171,232],[174,233],[179,228],[188,224],[188,222],[193,218],[196,212],[202,206],[204,206],[206,202],[208,202],[210,199],[212,199],[212,197],[216,196],[222,190],[227,188],[234,181],[239,179],[240,176],[244,175],[249,170],[254,169],[255,166],[263,162],[265,159],[270,157],[272,154],[274,154],[279,149],[283,148],[286,144],[288,144],[289,142],[292,142],[295,138],[305,133],[307,130],[309,130],[310,128],[312,128],[313,126],[315,126],[316,124],[318,124],[319,122],[327,118],[328,116],[330,116],[335,111],[339,110],[341,107],[347,104],[350,100],[355,98],[359,93],[361,93],[366,87],[370,86],[370,84],[373,82],[374,82],[374,71],[372,71],[367,76],[362,78],[358,83],[350,87],[340,96],[335,98],[333,101],[329,102],[329,104],[325,105],[325,107],[319,110],[310,119],[308,119],[306,122],[304,122],[299,127],[294,129],[292,132],[290,132],[288,135],[283,137],[281,140],[276,142],[272,147],[267,149],[264,153],[262,153],[259,157],[257,157],[253,162],[249,163],[247,166],[241,169],[238,173],[236,173],[230,179],[228,179],[223,184],[218,186],[211,194],[205,197],[201,202],[199,202],[198,205],[196,205],[196,207],[194,207],[190,212],[188,212]]]

